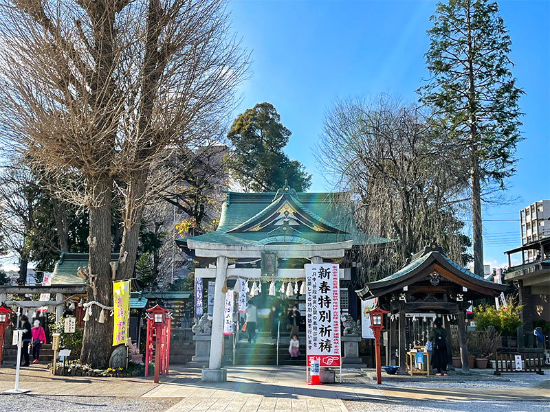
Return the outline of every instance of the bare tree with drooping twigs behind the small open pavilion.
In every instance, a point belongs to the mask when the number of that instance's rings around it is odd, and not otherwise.
[[[457,216],[467,176],[445,128],[415,106],[382,95],[340,100],[325,117],[318,158],[336,187],[351,192],[362,231],[395,240],[366,245],[366,279],[388,275],[434,238],[457,261],[469,240]]]

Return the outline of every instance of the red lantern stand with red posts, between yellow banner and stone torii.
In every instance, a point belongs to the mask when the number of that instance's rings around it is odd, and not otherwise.
[[[155,360],[155,383],[159,382],[159,374],[168,375],[168,359],[170,356],[170,320],[172,317],[167,309],[156,305],[147,309],[147,338],[145,349],[145,376],[148,375],[149,362]]]

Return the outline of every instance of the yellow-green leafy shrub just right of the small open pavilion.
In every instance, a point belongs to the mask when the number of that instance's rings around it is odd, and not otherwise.
[[[476,330],[487,330],[494,326],[496,332],[504,336],[516,336],[516,329],[520,327],[521,305],[515,304],[514,299],[507,299],[509,306],[500,309],[489,304],[479,305],[474,308],[474,322]]]

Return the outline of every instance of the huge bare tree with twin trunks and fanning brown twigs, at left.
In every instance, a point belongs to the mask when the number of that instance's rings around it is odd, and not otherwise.
[[[0,10],[1,122],[58,197],[89,209],[87,295],[110,305],[113,192],[115,279],[127,279],[151,170],[223,122],[247,56],[223,0],[2,0]],[[82,361],[107,364],[112,326],[87,323]]]

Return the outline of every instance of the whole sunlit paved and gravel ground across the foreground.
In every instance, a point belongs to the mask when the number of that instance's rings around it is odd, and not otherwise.
[[[13,387],[14,371],[0,369],[0,389]],[[548,375],[488,373],[445,378],[386,379],[377,387],[358,369],[344,369],[342,384],[310,387],[300,367],[234,367],[229,382],[203,383],[178,369],[162,377],[88,378],[51,376],[43,365],[23,369],[21,388],[30,395],[0,396],[1,411],[550,411]]]

